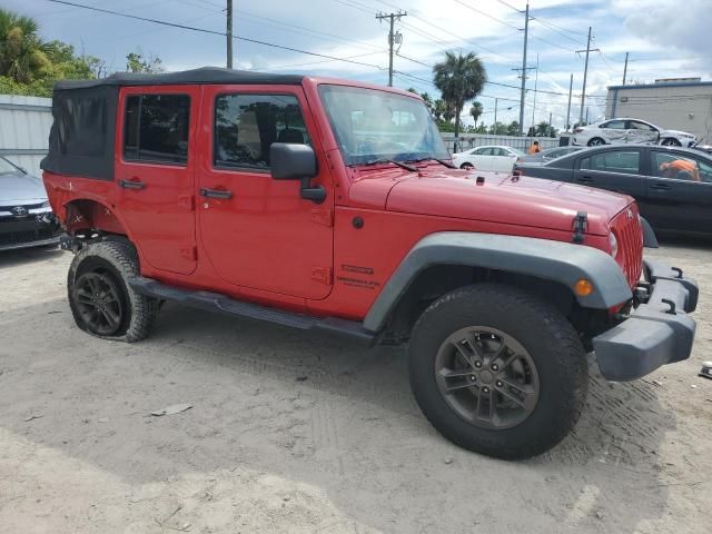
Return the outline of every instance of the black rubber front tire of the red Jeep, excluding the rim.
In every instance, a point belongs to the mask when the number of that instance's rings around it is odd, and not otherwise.
[[[441,346],[472,326],[512,336],[535,364],[538,399],[516,426],[475,426],[438,389],[435,360]],[[574,427],[586,398],[586,354],[576,332],[555,307],[512,286],[478,284],[435,300],[417,320],[408,353],[411,387],[427,419],[456,445],[488,456],[523,459],[551,449]]]

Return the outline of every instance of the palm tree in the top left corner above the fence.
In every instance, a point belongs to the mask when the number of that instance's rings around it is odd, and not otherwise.
[[[33,19],[0,9],[0,76],[27,83],[50,67],[38,30]]]

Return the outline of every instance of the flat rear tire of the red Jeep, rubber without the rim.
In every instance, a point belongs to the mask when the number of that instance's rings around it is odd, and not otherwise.
[[[92,332],[79,312],[75,284],[80,276],[89,271],[110,276],[123,299],[121,326],[112,335]],[[138,256],[129,243],[99,241],[79,250],[69,266],[67,276],[69,306],[77,326],[102,339],[135,343],[148,337],[156,322],[159,306],[157,299],[139,295],[128,285],[127,280],[136,276],[140,276]]]

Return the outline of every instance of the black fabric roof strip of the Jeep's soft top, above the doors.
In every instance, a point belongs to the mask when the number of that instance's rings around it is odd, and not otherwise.
[[[201,67],[199,69],[161,75],[142,75],[135,72],[117,72],[99,80],[65,80],[55,83],[56,91],[71,89],[89,89],[95,87],[126,87],[126,86],[172,86],[184,83],[249,83],[249,85],[284,85],[298,86],[304,76],[270,75],[249,70],[221,69],[219,67]]]

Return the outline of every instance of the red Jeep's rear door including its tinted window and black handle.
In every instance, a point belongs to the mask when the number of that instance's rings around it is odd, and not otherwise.
[[[199,108],[196,86],[121,89],[116,205],[150,266],[196,268],[192,204]]]

